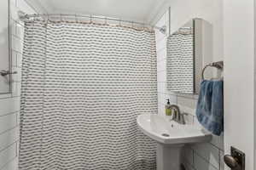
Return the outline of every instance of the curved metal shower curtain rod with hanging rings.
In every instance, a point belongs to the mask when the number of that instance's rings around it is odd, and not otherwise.
[[[78,18],[88,18],[91,20],[93,19],[99,19],[99,20],[105,20],[105,22],[107,22],[107,20],[112,20],[112,21],[117,21],[119,23],[123,22],[123,23],[129,23],[131,24],[131,26],[133,25],[140,25],[143,27],[149,27],[151,29],[157,29],[160,30],[160,32],[162,33],[166,33],[166,29],[163,27],[158,27],[158,26],[151,26],[142,22],[137,22],[137,21],[131,21],[131,20],[121,20],[118,18],[110,18],[110,17],[104,17],[104,16],[97,16],[97,15],[82,15],[82,14],[26,14],[22,11],[18,11],[18,15],[20,20],[29,20],[31,18],[37,18],[37,17],[42,17],[44,18],[48,18],[49,17],[53,17],[53,18],[61,18],[61,20],[65,17],[73,17],[75,20],[78,20]]]

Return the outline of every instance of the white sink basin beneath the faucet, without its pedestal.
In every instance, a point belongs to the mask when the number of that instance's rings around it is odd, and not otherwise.
[[[188,144],[208,142],[212,139],[202,127],[183,125],[170,121],[167,116],[140,115],[137,117],[138,127],[144,134],[161,144]]]

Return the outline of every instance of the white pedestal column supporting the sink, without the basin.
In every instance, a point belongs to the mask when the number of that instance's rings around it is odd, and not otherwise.
[[[181,150],[184,144],[157,143],[156,166],[157,170],[180,170]]]

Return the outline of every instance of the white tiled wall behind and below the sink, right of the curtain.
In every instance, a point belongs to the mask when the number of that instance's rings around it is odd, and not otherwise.
[[[156,26],[167,26],[167,16],[167,13],[164,14]],[[177,95],[166,89],[166,36],[156,30],[155,39],[158,58],[158,113],[165,115],[166,99],[170,99],[172,104],[179,105],[183,112],[189,113],[185,117],[187,122],[199,125],[195,117],[198,96],[188,94]],[[186,170],[223,170],[223,150],[223,136],[213,136],[212,141],[205,144],[189,144],[183,149],[183,165],[186,167]]]

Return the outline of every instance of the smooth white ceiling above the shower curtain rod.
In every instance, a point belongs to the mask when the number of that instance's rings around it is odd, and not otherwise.
[[[26,0],[49,14],[95,14],[149,23],[166,0]]]

